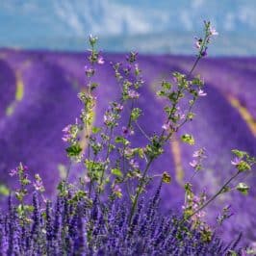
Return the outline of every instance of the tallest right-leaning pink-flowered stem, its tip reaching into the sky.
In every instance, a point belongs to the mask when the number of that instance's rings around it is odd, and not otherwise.
[[[130,221],[133,218],[135,208],[137,207],[138,199],[141,192],[144,190],[144,186],[147,183],[146,175],[155,159],[157,159],[161,154],[164,153],[164,145],[166,141],[171,140],[172,136],[178,132],[178,130],[189,120],[192,120],[194,114],[192,113],[192,107],[198,97],[205,96],[206,93],[202,90],[203,81],[199,76],[189,80],[192,75],[198,61],[203,57],[202,52],[210,42],[210,38],[213,36],[211,33],[211,24],[210,22],[205,22],[205,37],[202,40],[201,47],[199,48],[199,53],[196,61],[192,65],[192,69],[189,72],[189,75],[181,74],[179,72],[173,73],[173,81],[167,82],[163,81],[161,85],[161,90],[157,92],[158,96],[166,99],[168,105],[165,107],[166,121],[162,126],[162,132],[160,135],[153,135],[150,138],[150,143],[145,146],[145,156],[147,159],[146,166],[142,171],[141,179],[139,180],[139,185],[136,189],[136,194],[131,198],[132,199],[132,211],[130,215]],[[183,112],[181,108],[181,102],[183,99],[189,97],[189,104],[187,112]],[[192,135],[185,134],[181,137],[181,140],[189,144],[194,143]]]

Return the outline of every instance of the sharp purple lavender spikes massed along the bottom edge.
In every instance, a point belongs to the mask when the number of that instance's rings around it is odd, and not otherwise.
[[[97,197],[78,199],[72,189],[45,206],[34,192],[26,224],[10,201],[0,218],[1,255],[225,255],[236,249],[236,241],[226,246],[217,237],[205,243],[189,223],[181,231],[181,217],[173,213],[160,216],[161,186],[148,202],[141,198],[131,223],[127,203],[110,200],[102,207]]]

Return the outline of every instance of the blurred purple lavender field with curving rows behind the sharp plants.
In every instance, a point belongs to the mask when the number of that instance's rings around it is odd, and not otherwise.
[[[97,71],[100,88],[96,106],[95,124],[99,126],[109,101],[118,93],[110,61],[123,59],[121,55],[107,55],[105,64]],[[139,63],[145,84],[141,89],[139,106],[145,111],[140,123],[148,134],[160,131],[164,122],[163,102],[155,96],[163,78],[172,71],[188,71],[192,58],[168,56],[141,56]],[[80,105],[77,92],[85,85],[84,54],[0,51],[0,183],[13,187],[8,172],[19,162],[29,166],[42,177],[47,193],[51,194],[60,180],[60,170],[67,166],[62,130],[74,122]],[[241,148],[256,154],[256,78],[255,59],[209,59],[199,64],[197,70],[206,81],[207,97],[196,106],[196,116],[182,132],[194,135],[196,144],[189,147],[178,138],[166,147],[169,157],[161,157],[153,166],[155,173],[170,171],[171,185],[163,191],[163,211],[181,210],[184,192],[182,185],[192,175],[192,151],[206,147],[206,170],[194,179],[199,192],[217,191],[223,180],[230,176],[230,149]],[[125,125],[121,123],[120,127]],[[138,132],[138,131],[136,131]],[[136,133],[140,134],[140,132]],[[137,136],[138,145],[145,141]],[[136,145],[135,145],[136,146]],[[71,174],[77,171],[73,166]],[[221,206],[234,201],[236,215],[224,223],[222,232],[226,239],[243,231],[243,243],[256,240],[255,174],[247,178],[251,191],[247,197],[231,193],[220,197],[208,208],[208,218],[214,222]],[[246,209],[246,211],[244,211]]]

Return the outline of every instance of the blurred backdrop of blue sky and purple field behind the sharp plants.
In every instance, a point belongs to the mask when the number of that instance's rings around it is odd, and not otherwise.
[[[130,50],[140,52],[145,85],[141,125],[148,134],[161,128],[164,102],[155,96],[162,79],[174,70],[187,72],[195,59],[194,37],[202,35],[203,20],[211,20],[218,37],[208,57],[196,68],[206,82],[207,97],[196,118],[180,132],[192,133],[196,144],[182,144],[178,136],[166,146],[166,156],[152,171],[167,170],[172,184],[163,191],[163,212],[180,211],[183,185],[192,175],[192,151],[206,147],[205,170],[194,181],[199,192],[214,193],[234,171],[230,150],[256,155],[256,2],[254,0],[180,1],[19,1],[0,2],[0,192],[4,204],[15,182],[8,172],[19,162],[39,173],[46,193],[54,188],[68,165],[62,129],[79,115],[77,93],[85,88],[87,38],[98,36],[105,64],[99,67],[99,103],[95,123],[110,100],[117,98],[111,61],[124,60]],[[140,136],[135,141],[143,140]],[[72,166],[73,175],[76,166]],[[243,180],[251,187],[221,196],[208,209],[214,225],[221,207],[231,203],[235,215],[218,234],[226,241],[243,231],[243,244],[256,241],[255,169]],[[235,185],[235,184],[234,184]]]

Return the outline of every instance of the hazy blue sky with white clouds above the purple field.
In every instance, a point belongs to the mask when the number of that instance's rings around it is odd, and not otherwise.
[[[1,0],[0,47],[191,54],[210,20],[213,56],[256,56],[256,0]]]

